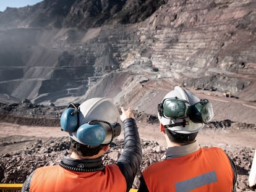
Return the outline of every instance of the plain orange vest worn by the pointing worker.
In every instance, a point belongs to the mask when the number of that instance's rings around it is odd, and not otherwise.
[[[126,179],[116,164],[106,165],[97,172],[73,172],[59,165],[35,170],[30,192],[65,191],[126,191]]]

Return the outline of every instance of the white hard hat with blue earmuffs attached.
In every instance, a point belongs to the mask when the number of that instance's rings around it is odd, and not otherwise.
[[[89,146],[108,144],[120,135],[121,120],[111,98],[92,98],[68,107],[61,116],[61,128],[70,137]]]

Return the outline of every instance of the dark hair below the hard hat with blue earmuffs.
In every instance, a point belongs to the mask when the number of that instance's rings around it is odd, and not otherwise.
[[[103,148],[104,144],[100,144],[99,146],[88,146],[82,143],[79,143],[72,138],[70,138],[70,150],[76,152],[79,154],[79,156],[94,156],[100,152],[100,150]]]

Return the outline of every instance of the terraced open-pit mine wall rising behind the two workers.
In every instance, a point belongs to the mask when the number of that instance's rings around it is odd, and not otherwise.
[[[125,103],[142,79],[156,99],[157,81],[167,80],[165,90],[256,100],[255,1],[104,2],[45,0],[0,12],[0,101]]]

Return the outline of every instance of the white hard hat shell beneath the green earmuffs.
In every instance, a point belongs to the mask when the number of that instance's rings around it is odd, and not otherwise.
[[[197,96],[195,96],[195,94],[181,88],[180,86],[175,86],[173,91],[170,91],[166,94],[166,96],[164,96],[163,100],[161,101],[162,107],[164,107],[163,102],[168,99],[176,99],[176,101],[182,101],[185,108],[186,106],[194,106],[201,101]],[[177,106],[179,106],[179,104],[177,104]],[[213,117],[213,111],[210,102],[208,106],[209,109],[207,109],[207,120],[210,120]],[[184,134],[196,133],[205,125],[203,122],[192,121],[187,115],[181,118],[168,118],[166,115],[163,115],[159,109],[158,119],[160,120],[160,123],[165,125],[165,127],[167,127],[169,130]],[[186,124],[184,122],[186,122]]]

